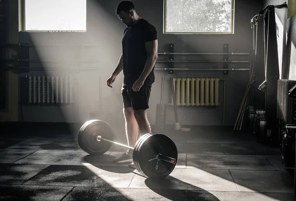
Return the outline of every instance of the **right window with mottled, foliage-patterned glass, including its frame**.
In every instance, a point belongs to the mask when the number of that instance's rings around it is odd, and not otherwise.
[[[234,0],[164,0],[164,33],[233,33]]]

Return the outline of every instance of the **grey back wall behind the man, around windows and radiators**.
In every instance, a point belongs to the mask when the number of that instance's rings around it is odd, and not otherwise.
[[[50,122],[84,122],[88,120],[89,113],[98,111],[99,105],[99,77],[102,88],[102,110],[101,117],[112,125],[124,122],[122,116],[121,83],[122,74],[119,75],[113,88],[106,86],[106,80],[111,75],[121,54],[121,36],[124,26],[115,14],[115,8],[120,0],[88,0],[87,1],[87,32],[86,33],[20,33],[21,43],[32,44],[99,44],[98,47],[75,49],[74,47],[47,47],[31,48],[31,59],[61,59],[77,58],[100,59],[99,64],[83,64],[83,67],[100,67],[97,70],[70,71],[62,67],[73,67],[77,64],[60,63],[31,63],[31,67],[54,68],[48,71],[33,71],[29,74],[71,74],[77,79],[77,100],[76,103],[63,107],[41,107],[25,106],[25,121],[50,121]],[[158,31],[158,51],[168,51],[169,43],[175,44],[176,52],[222,52],[222,44],[229,44],[229,51],[234,53],[253,54],[253,30],[250,20],[263,8],[261,0],[235,0],[235,27],[234,34],[162,34],[163,30],[163,0],[134,0],[137,13],[153,24]],[[259,33],[260,34],[260,33]],[[259,41],[260,45],[260,41]],[[259,47],[259,50],[260,49]],[[263,59],[258,56],[259,66]],[[159,56],[160,60],[165,57]],[[222,57],[176,57],[176,59],[194,60],[220,60]],[[248,57],[234,57],[231,60],[248,60]],[[167,67],[165,64],[156,64],[156,67]],[[222,68],[222,64],[176,64],[175,67],[201,67],[201,68]],[[230,64],[229,68],[249,68],[249,64]],[[263,80],[263,67],[258,68],[258,77]],[[25,76],[27,74],[22,74]],[[249,71],[229,71],[228,75],[222,75],[222,71],[175,71],[170,75],[165,71],[155,71],[156,80],[152,87],[150,97],[150,109],[148,118],[151,124],[155,123],[156,104],[160,102],[161,76],[165,77],[164,102],[171,102],[169,78],[174,77],[217,77],[224,79],[220,83],[220,103],[218,107],[178,107],[180,121],[184,125],[222,125],[223,117],[223,85],[225,83],[225,109],[224,125],[234,125],[238,110],[243,99]],[[261,82],[261,81],[260,81]],[[258,95],[258,100],[260,95]],[[115,121],[116,120],[116,121]],[[167,124],[175,121],[173,107],[167,110]]]

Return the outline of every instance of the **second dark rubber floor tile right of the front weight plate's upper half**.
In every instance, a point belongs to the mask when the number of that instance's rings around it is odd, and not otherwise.
[[[276,155],[280,154],[279,147],[271,147],[264,144],[221,143],[225,154],[248,155]]]

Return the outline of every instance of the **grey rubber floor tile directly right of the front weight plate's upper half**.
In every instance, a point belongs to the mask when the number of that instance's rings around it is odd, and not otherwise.
[[[219,143],[175,143],[178,153],[224,154]]]

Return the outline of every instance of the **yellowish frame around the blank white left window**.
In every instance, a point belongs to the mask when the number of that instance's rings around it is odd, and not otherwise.
[[[87,0],[86,1],[86,29],[85,30],[26,30],[26,0],[19,3],[19,32],[86,32],[87,31]]]

